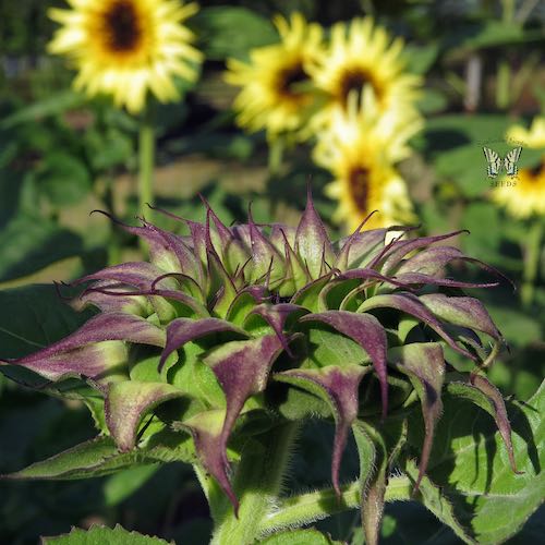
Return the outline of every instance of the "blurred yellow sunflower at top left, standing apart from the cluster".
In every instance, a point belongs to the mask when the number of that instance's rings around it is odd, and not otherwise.
[[[77,69],[76,89],[113,97],[117,106],[141,111],[150,90],[161,102],[180,98],[173,76],[197,77],[202,53],[181,23],[197,12],[177,0],[68,0],[72,9],[50,9],[62,25],[51,53],[65,55]]]

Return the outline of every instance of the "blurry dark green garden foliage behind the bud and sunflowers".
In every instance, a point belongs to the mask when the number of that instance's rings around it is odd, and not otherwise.
[[[482,146],[501,154],[506,130],[529,125],[545,110],[545,5],[532,0],[429,1],[240,1],[199,2],[189,26],[206,62],[183,104],[158,108],[157,205],[202,219],[198,192],[226,223],[244,220],[253,202],[257,221],[294,225],[312,175],[326,221],[335,209],[322,189],[330,174],[313,165],[308,146],[290,149],[280,172],[267,168],[264,134],[247,135],[234,124],[237,89],[222,81],[228,57],[245,58],[253,47],[274,43],[271,16],[301,11],[329,26],[362,14],[407,40],[408,70],[425,77],[420,107],[425,129],[400,169],[424,233],[468,229],[458,243],[468,254],[502,270],[520,284],[532,221],[507,216],[489,203]],[[70,89],[73,74],[62,59],[46,55],[55,25],[46,16],[62,2],[2,0],[0,4],[0,353],[21,355],[73,330],[85,316],[58,298],[51,282],[70,281],[116,257],[132,259],[136,242],[112,228],[96,208],[134,222],[137,214],[135,121],[107,99],[89,101]],[[506,17],[512,5],[523,21]],[[520,19],[520,17],[519,17]],[[479,66],[475,90],[468,68]],[[504,66],[502,69],[500,66]],[[498,82],[508,70],[508,86]],[[502,147],[504,146],[504,147]],[[535,164],[524,152],[520,166]],[[545,197],[544,197],[545,198]],[[272,216],[272,217],[271,217]],[[174,221],[156,218],[177,229]],[[330,223],[330,222],[329,222]],[[339,228],[330,223],[331,230]],[[116,240],[112,250],[111,241]],[[116,255],[112,255],[112,252]],[[507,396],[528,399],[545,364],[543,245],[533,303],[523,308],[509,286],[481,291],[510,344],[492,370]],[[462,270],[472,278],[469,270]],[[45,286],[31,286],[31,284]],[[55,319],[51,319],[55,308]],[[17,334],[17,331],[20,334]],[[301,439],[293,482],[310,487],[328,480],[327,435],[310,424]],[[322,434],[322,435],[320,435]],[[44,459],[94,435],[77,404],[8,384],[0,375],[0,473]],[[354,452],[346,476],[356,472]],[[177,543],[206,543],[207,507],[191,470],[147,467],[111,477],[69,483],[0,483],[0,543],[36,543],[38,535],[71,525],[120,522]],[[543,509],[510,543],[545,534]],[[356,513],[322,523],[335,537],[362,543],[353,532]],[[453,534],[416,504],[389,506],[384,543],[456,543]]]

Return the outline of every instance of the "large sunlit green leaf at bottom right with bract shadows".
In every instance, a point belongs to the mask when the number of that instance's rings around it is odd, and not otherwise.
[[[545,383],[525,403],[508,403],[516,474],[492,419],[472,403],[444,395],[428,465],[429,479],[452,502],[457,519],[481,544],[516,534],[545,494]],[[410,434],[411,435],[411,434]]]

